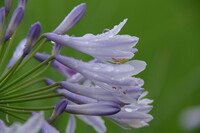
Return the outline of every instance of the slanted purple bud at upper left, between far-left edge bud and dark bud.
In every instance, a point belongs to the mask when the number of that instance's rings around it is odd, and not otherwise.
[[[11,17],[8,28],[6,29],[3,40],[9,40],[12,37],[13,33],[16,31],[19,24],[21,23],[23,17],[24,9],[22,7],[16,8]]]

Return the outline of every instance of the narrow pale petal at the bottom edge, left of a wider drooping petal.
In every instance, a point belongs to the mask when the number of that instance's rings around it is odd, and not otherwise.
[[[74,133],[75,129],[76,129],[76,120],[74,118],[74,115],[70,115],[66,128],[66,133]]]

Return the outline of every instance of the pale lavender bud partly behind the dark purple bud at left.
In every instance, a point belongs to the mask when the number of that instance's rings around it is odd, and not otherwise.
[[[17,46],[12,59],[10,60],[9,64],[8,64],[8,68],[12,67],[17,60],[24,54],[24,48],[25,48],[25,44],[26,44],[26,39],[23,39],[19,45]]]

